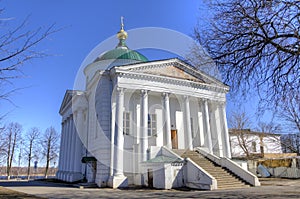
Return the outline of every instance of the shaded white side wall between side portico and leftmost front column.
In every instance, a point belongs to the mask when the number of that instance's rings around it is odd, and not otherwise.
[[[98,160],[96,183],[105,186],[110,175],[111,161],[111,92],[112,82],[107,75],[94,79],[89,85],[88,149]]]

